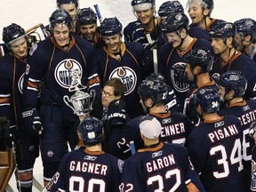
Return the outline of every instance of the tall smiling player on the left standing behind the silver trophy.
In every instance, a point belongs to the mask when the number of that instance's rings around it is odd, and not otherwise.
[[[41,84],[40,117],[44,126],[41,156],[44,164],[44,184],[51,180],[61,157],[67,153],[67,141],[71,149],[78,142],[76,126],[79,119],[68,100],[71,102],[74,97],[80,99],[76,92],[79,89],[89,91],[87,88],[96,90],[96,100],[100,98],[100,80],[94,71],[96,64],[92,44],[70,35],[72,18],[64,10],[52,12],[49,26],[53,36],[36,44],[30,51],[31,57],[24,81],[23,112],[28,127],[40,122],[36,110],[36,94]],[[41,131],[36,129],[38,130],[35,131]]]

